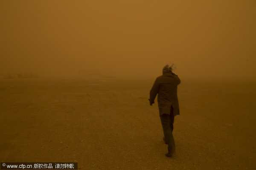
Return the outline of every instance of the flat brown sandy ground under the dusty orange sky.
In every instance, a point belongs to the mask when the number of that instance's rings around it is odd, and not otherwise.
[[[167,158],[151,80],[0,79],[0,161],[81,170],[255,170],[256,82],[178,86]]]

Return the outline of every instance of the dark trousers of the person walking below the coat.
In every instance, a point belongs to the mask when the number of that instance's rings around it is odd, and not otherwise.
[[[175,149],[175,142],[172,136],[173,131],[173,122],[174,122],[174,115],[173,115],[173,108],[171,108],[170,114],[163,114],[160,116],[161,123],[163,126],[163,134],[166,143],[168,144],[168,150]]]

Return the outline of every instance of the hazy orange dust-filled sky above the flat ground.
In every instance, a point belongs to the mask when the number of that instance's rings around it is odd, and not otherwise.
[[[0,76],[256,79],[256,0],[0,0]]]

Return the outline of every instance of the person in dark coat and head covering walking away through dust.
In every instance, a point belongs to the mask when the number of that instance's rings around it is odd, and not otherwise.
[[[151,91],[149,104],[154,103],[157,96],[159,114],[163,127],[163,134],[166,144],[168,144],[167,157],[171,157],[175,150],[175,142],[172,135],[174,117],[180,114],[177,98],[177,85],[180,84],[179,77],[172,72],[175,65],[166,65],[163,68],[163,75],[156,78]]]

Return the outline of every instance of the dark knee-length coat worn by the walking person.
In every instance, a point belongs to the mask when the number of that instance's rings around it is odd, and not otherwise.
[[[150,103],[154,103],[157,96],[159,114],[170,114],[171,106],[173,107],[174,116],[180,114],[179,103],[177,98],[177,85],[180,84],[179,77],[168,71],[157,77],[150,91]]]

